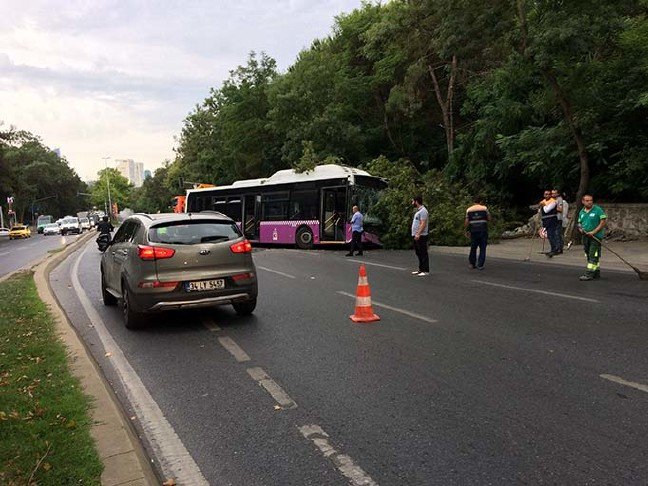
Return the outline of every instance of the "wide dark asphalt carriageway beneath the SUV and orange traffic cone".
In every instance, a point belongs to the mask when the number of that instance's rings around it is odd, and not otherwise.
[[[147,407],[128,403],[135,375],[210,484],[648,483],[648,283],[634,274],[432,255],[420,278],[412,252],[375,251],[362,258],[382,319],[358,325],[359,258],[254,257],[254,316],[162,314],[137,332],[102,305],[93,244],[51,276],[156,459],[168,430],[151,437]]]

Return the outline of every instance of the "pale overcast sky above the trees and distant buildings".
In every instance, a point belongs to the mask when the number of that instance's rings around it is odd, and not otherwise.
[[[102,157],[153,171],[196,103],[252,50],[284,71],[361,0],[3,0],[0,121],[84,180]]]

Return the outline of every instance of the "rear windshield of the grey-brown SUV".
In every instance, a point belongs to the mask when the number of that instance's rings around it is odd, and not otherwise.
[[[151,243],[168,245],[196,245],[218,241],[235,240],[241,232],[228,221],[181,221],[153,226],[148,231]]]

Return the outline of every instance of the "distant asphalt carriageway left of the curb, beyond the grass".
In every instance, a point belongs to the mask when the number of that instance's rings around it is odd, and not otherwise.
[[[0,277],[18,270],[32,262],[43,258],[49,251],[63,248],[71,243],[78,235],[43,236],[36,232],[31,238],[9,240],[0,238]]]

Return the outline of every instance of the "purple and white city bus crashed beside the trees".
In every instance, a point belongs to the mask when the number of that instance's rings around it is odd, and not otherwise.
[[[186,211],[218,211],[239,224],[252,242],[296,245],[351,241],[351,207],[364,214],[363,241],[380,244],[379,221],[372,213],[384,179],[353,167],[328,164],[297,173],[280,170],[265,179],[230,186],[190,189]]]

